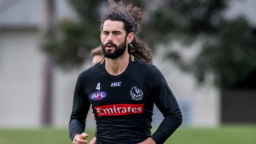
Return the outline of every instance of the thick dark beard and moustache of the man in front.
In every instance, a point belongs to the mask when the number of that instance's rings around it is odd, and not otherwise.
[[[108,44],[111,44],[115,48],[113,52],[106,50]],[[126,41],[123,41],[121,44],[119,44],[119,46],[113,42],[107,42],[105,45],[101,42],[101,48],[105,57],[116,59],[117,57],[120,57],[122,54],[124,54],[126,50]]]

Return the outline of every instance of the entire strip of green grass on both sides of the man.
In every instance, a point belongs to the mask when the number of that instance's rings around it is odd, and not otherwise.
[[[87,133],[90,139],[94,129],[88,129]],[[71,144],[71,141],[68,129],[0,129],[0,144]],[[180,127],[165,144],[256,144],[256,125]]]

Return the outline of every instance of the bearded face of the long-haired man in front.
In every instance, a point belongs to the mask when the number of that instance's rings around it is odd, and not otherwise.
[[[126,51],[126,33],[121,21],[106,20],[100,34],[101,47],[105,57],[115,59]]]

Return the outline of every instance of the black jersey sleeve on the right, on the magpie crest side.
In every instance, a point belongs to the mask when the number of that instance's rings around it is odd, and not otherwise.
[[[154,65],[150,75],[150,87],[154,103],[164,116],[163,121],[151,138],[156,144],[163,144],[181,125],[182,114],[173,92],[160,70]]]

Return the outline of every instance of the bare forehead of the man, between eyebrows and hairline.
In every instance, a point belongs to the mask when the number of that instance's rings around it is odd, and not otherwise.
[[[103,24],[103,31],[124,31],[124,23],[117,20],[106,20]]]

